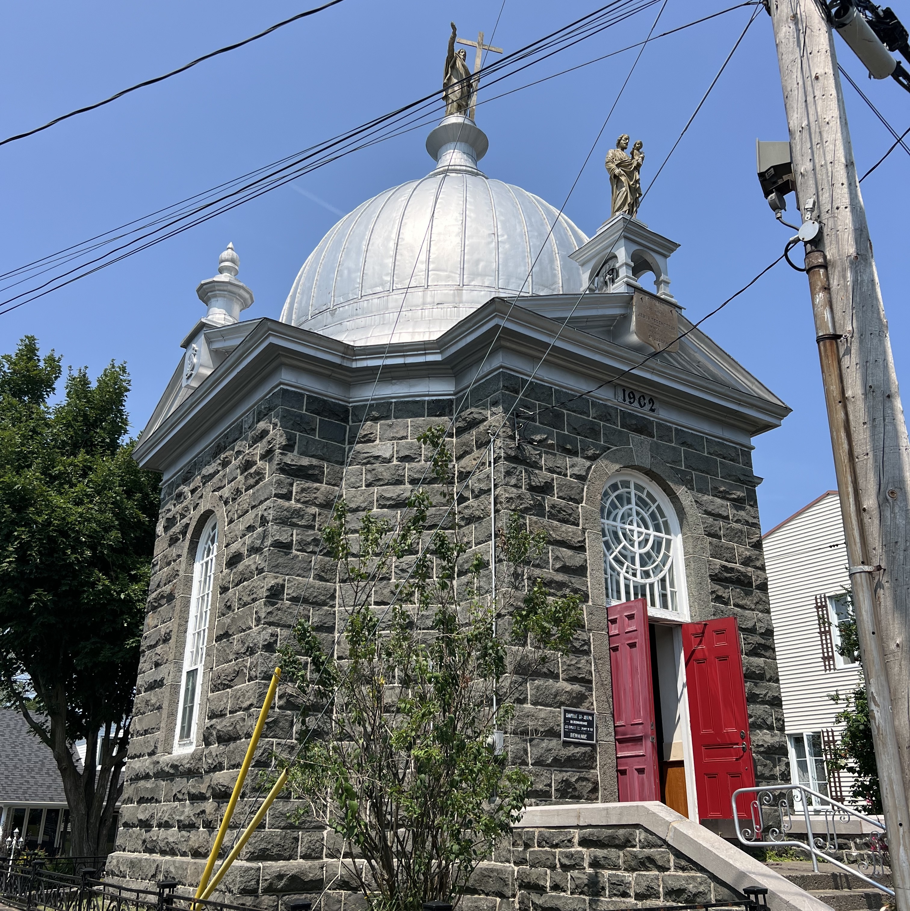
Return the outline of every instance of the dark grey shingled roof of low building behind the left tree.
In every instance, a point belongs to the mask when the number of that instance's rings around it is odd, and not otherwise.
[[[54,754],[18,711],[0,709],[0,804],[65,804]]]

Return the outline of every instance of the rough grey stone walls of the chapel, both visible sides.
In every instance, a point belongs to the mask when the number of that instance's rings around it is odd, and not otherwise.
[[[749,450],[612,404],[588,398],[570,401],[568,394],[543,384],[531,384],[516,409],[517,418],[503,424],[504,412],[516,404],[522,384],[509,374],[478,384],[455,419],[454,438],[459,484],[469,478],[457,512],[469,545],[488,552],[486,451],[490,432],[498,430],[497,522],[516,511],[527,517],[532,530],[545,529],[549,547],[541,575],[551,589],[576,591],[587,602],[586,629],[579,631],[569,655],[527,682],[506,732],[510,760],[532,775],[534,802],[616,798],[598,508],[606,477],[623,466],[651,477],[680,514],[692,619],[736,616],[759,780],[787,780],[755,499],[759,479],[752,475]],[[428,454],[417,436],[429,425],[447,425],[452,408],[451,399],[407,400],[373,404],[364,414],[363,406],[349,408],[279,389],[163,488],[134,735],[118,853],[108,866],[111,874],[134,881],[161,875],[173,875],[181,883],[198,881],[271,678],[279,636],[287,635],[298,614],[310,619],[327,646],[343,630],[334,565],[324,556],[313,564],[339,485],[343,480],[345,499],[355,512],[373,508],[395,515],[427,472]],[[358,442],[351,452],[354,438]],[[193,557],[213,513],[219,518],[221,550],[199,708],[203,746],[173,755]],[[382,608],[390,596],[388,587],[377,586],[376,607]],[[598,711],[597,749],[562,744],[562,706]],[[271,749],[293,735],[294,715],[280,694],[257,763],[267,763]],[[251,814],[254,777],[235,825]],[[312,891],[300,884],[311,875],[315,883],[322,875],[324,835],[293,829],[290,809],[281,803],[272,808],[266,829],[256,834],[226,880],[230,892]],[[528,853],[531,850],[527,846]],[[541,845],[533,850],[550,849]],[[624,866],[627,850],[651,850],[638,841],[635,847],[615,848],[615,868],[589,865],[591,851],[614,848],[585,844],[553,850],[557,866],[552,871],[530,864],[527,870],[536,870],[533,876],[538,879],[544,875],[539,871],[550,871],[547,877],[555,874],[552,882],[557,884],[564,872],[558,852],[583,851],[585,866],[578,871],[591,875],[585,882],[600,883],[608,871],[606,900],[610,875],[616,884],[631,876],[635,900],[635,875],[658,875],[663,894],[665,875],[673,883],[673,875],[691,873],[672,862],[667,870]],[[303,880],[295,878],[294,871]],[[547,890],[550,882],[547,878]],[[647,877],[641,882],[648,882]]]

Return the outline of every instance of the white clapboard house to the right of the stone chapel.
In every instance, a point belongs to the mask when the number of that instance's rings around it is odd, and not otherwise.
[[[852,776],[826,759],[841,725],[831,694],[854,691],[859,666],[838,654],[849,589],[844,525],[829,490],[763,536],[792,783],[850,800]]]

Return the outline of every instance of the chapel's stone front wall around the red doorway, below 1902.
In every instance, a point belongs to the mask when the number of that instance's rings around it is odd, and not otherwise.
[[[531,383],[516,403],[524,383],[503,373],[475,387],[470,407],[459,415],[459,464],[468,466],[472,453],[488,445],[491,426],[503,426],[497,443],[498,509],[503,517],[517,511],[527,516],[529,527],[547,531],[543,575],[552,589],[575,590],[588,600],[586,645],[595,657],[587,665],[588,652],[579,643],[560,667],[558,683],[537,686],[537,698],[528,700],[525,732],[531,741],[533,731],[558,736],[561,705],[596,708],[606,741],[598,750],[599,799],[615,799],[599,507],[608,476],[629,468],[655,482],[680,518],[691,619],[737,619],[758,783],[789,781],[755,490],[761,478],[752,473],[751,450],[545,384]],[[503,425],[508,413],[514,417]],[[472,496],[486,492],[488,484],[488,475],[478,476]],[[480,499],[476,508],[485,505]],[[519,713],[516,724],[521,720]],[[535,750],[555,749],[539,739],[537,744],[528,745],[532,765]],[[584,755],[590,761],[590,752]],[[597,799],[593,773],[586,775],[583,763],[579,759],[565,789],[554,774],[552,791],[547,794],[544,783],[536,797]],[[539,769],[534,774],[537,779]]]

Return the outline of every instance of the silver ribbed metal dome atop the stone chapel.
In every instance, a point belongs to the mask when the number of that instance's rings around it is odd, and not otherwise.
[[[472,120],[445,118],[426,148],[435,170],[364,202],[322,238],[282,322],[352,344],[412,342],[497,295],[581,292],[568,254],[588,238],[533,193],[477,169],[486,136]]]

